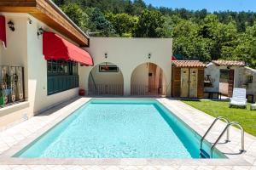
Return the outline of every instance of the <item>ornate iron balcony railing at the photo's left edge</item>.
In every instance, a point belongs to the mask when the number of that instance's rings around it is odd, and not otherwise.
[[[15,104],[24,98],[23,67],[0,65],[0,107]]]

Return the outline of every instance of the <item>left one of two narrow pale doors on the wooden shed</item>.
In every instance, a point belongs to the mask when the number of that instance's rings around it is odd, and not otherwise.
[[[181,86],[180,97],[189,97],[189,69],[181,69]]]

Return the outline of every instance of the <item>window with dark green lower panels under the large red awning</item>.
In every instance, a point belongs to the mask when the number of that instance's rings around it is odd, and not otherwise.
[[[47,61],[47,85],[48,95],[78,88],[78,63],[63,60]]]

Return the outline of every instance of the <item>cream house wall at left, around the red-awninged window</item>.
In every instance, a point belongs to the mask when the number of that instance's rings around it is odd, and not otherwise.
[[[6,26],[7,48],[2,49],[2,65],[24,66],[29,115],[32,116],[50,106],[77,96],[79,88],[47,95],[47,61],[43,55],[43,36],[38,37],[37,31],[40,27],[43,27],[45,31],[54,30],[29,14],[4,13],[3,15],[6,17],[6,22],[9,20],[14,22],[15,31],[10,31]],[[32,24],[29,24],[28,18],[32,20]]]

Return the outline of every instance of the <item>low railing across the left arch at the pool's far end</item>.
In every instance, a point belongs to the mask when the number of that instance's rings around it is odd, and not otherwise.
[[[89,84],[89,95],[124,95],[123,84]]]

